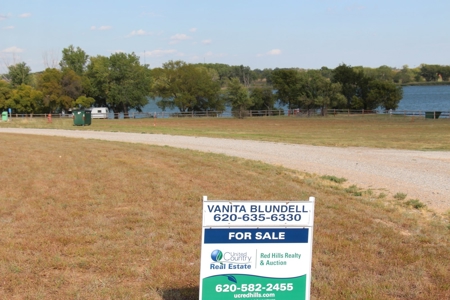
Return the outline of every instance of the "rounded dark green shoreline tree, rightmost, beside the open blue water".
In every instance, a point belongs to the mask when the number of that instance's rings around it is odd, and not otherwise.
[[[368,101],[373,103],[373,108],[397,109],[403,98],[402,87],[389,81],[373,80],[369,83],[369,90]]]

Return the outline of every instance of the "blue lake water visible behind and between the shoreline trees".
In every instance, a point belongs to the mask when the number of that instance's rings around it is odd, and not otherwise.
[[[162,112],[154,100],[150,100],[142,111],[145,113]],[[400,101],[397,111],[450,112],[450,85],[404,86],[403,99]],[[167,115],[174,112],[179,112],[179,110],[175,108],[165,111]]]

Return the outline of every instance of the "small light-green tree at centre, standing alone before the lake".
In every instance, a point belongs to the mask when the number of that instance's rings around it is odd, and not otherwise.
[[[228,82],[225,99],[239,119],[244,118],[245,111],[253,105],[252,99],[248,96],[247,88],[241,84],[239,78],[232,78]]]

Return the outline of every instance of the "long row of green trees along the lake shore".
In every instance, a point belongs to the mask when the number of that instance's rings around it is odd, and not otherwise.
[[[114,113],[138,112],[149,98],[161,109],[180,112],[290,109],[395,109],[402,98],[399,83],[449,80],[450,67],[421,65],[419,73],[352,67],[335,69],[255,69],[226,64],[168,61],[150,69],[134,54],[89,56],[73,45],[62,50],[59,68],[31,73],[26,63],[8,66],[0,80],[0,109],[14,113],[53,113],[106,106]],[[420,76],[419,76],[420,74]],[[419,77],[418,77],[419,76]]]

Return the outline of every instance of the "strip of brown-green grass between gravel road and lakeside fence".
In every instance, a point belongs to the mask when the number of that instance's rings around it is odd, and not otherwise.
[[[404,116],[94,119],[91,126],[85,127],[73,126],[71,119],[54,118],[48,124],[39,118],[17,118],[0,126],[163,133],[338,147],[450,150],[450,119]]]

